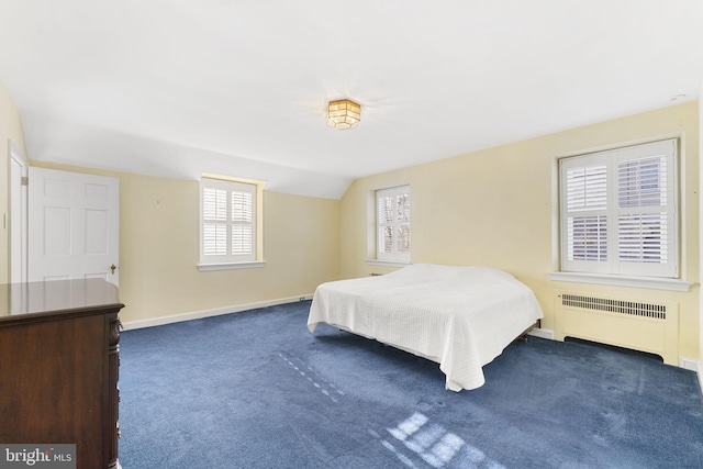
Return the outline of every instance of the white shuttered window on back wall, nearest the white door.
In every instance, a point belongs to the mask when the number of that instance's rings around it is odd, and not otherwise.
[[[256,185],[200,180],[200,263],[244,263],[256,258]]]

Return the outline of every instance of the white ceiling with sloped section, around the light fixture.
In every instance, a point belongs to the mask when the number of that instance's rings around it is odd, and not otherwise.
[[[703,1],[0,0],[0,81],[32,159],[339,198],[696,100]],[[325,125],[338,98],[356,129]]]

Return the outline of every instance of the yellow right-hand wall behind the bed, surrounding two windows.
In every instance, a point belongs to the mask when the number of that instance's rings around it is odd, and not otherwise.
[[[682,275],[699,281],[698,103],[550,134],[439,161],[358,179],[342,199],[341,276],[354,278],[389,268],[369,266],[367,200],[370,191],[410,183],[412,261],[484,265],[515,275],[535,291],[555,328],[555,291],[588,291],[648,301],[677,301],[679,355],[699,356],[699,287],[688,293],[554,282],[556,156],[656,137],[681,135]]]

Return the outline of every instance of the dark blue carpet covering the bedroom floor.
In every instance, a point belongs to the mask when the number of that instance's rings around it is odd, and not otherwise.
[[[531,337],[444,389],[438,366],[310,302],[122,334],[124,469],[703,468],[694,372]]]

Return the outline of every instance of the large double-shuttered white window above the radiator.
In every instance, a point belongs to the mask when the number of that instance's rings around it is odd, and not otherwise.
[[[678,276],[677,141],[559,160],[561,270]]]

